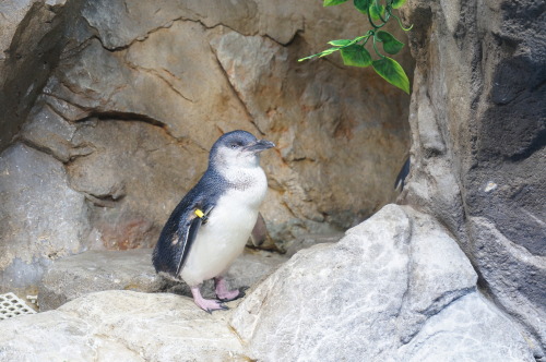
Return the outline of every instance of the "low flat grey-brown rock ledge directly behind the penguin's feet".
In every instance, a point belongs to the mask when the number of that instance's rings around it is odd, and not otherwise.
[[[277,265],[284,256],[268,252],[247,252],[226,273],[232,288],[251,287]],[[204,293],[214,298],[213,282]],[[87,251],[56,261],[40,281],[40,311],[49,311],[82,295],[103,290],[142,292],[170,291],[191,295],[189,287],[157,276],[152,265],[152,250]]]

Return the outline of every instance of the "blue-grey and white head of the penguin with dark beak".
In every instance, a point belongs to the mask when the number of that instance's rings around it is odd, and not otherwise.
[[[221,136],[212,146],[209,162],[213,167],[256,167],[260,153],[275,147],[265,140],[258,140],[246,131],[233,131]]]

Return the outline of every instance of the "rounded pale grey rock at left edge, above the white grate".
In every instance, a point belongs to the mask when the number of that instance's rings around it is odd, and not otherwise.
[[[52,260],[83,250],[87,208],[61,162],[21,143],[0,156],[0,293],[24,294]]]

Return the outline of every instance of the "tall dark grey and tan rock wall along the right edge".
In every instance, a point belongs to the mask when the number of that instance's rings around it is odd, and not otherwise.
[[[546,41],[536,1],[411,1],[412,173],[479,285],[546,346]]]

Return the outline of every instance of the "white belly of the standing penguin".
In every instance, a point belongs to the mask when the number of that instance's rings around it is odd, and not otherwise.
[[[221,196],[191,246],[181,278],[197,286],[224,273],[242,253],[258,218],[263,192],[230,190]]]

